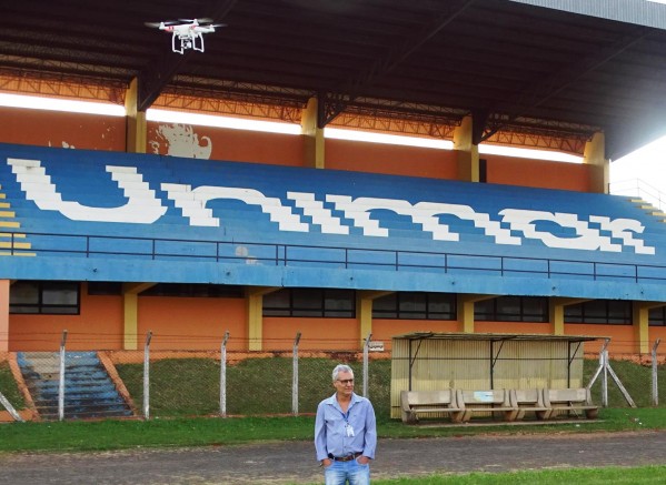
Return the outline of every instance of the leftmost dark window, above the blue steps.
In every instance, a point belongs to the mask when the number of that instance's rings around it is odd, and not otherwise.
[[[9,313],[78,315],[79,283],[19,281],[9,290]]]

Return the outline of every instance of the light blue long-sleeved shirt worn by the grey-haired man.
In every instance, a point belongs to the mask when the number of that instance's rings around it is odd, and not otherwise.
[[[346,423],[354,430],[354,436],[347,436]],[[372,404],[365,397],[351,394],[347,413],[338,404],[334,394],[319,403],[315,421],[315,448],[317,459],[334,456],[348,456],[361,453],[375,459],[377,447],[377,423]]]

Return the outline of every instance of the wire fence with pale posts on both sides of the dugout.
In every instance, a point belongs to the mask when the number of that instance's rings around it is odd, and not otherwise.
[[[301,341],[291,350],[248,352],[225,343],[215,351],[152,350],[149,341],[137,351],[74,352],[62,345],[54,352],[0,353],[0,417],[307,415],[334,393],[338,363],[354,368],[356,392],[372,401],[378,418],[390,416],[390,353],[368,352],[368,345],[315,351]],[[586,355],[584,382],[593,401],[665,406],[666,354],[654,351],[614,355],[622,358],[608,358],[607,348]]]

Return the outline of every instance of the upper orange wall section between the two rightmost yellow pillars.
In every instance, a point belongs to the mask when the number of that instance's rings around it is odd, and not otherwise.
[[[481,158],[487,160],[488,183],[590,191],[592,165],[500,155],[481,155]]]

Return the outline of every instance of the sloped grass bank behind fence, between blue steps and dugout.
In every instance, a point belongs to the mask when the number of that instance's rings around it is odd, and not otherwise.
[[[246,416],[290,414],[292,365],[290,357],[252,358],[229,365],[227,413]],[[135,403],[141,407],[142,364],[121,364],[117,368]],[[332,394],[327,378],[331,368],[328,358],[299,361],[299,413],[315,413],[319,401]],[[206,416],[219,413],[219,380],[220,364],[209,358],[165,358],[151,363],[151,416]],[[372,362],[369,394],[378,414],[386,417],[390,412],[389,383],[390,361]]]

